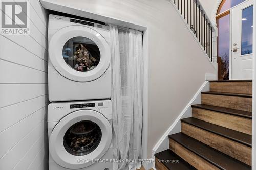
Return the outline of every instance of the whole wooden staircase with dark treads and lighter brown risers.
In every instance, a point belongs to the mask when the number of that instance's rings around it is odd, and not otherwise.
[[[210,81],[169,149],[155,154],[157,170],[251,169],[252,81]]]

